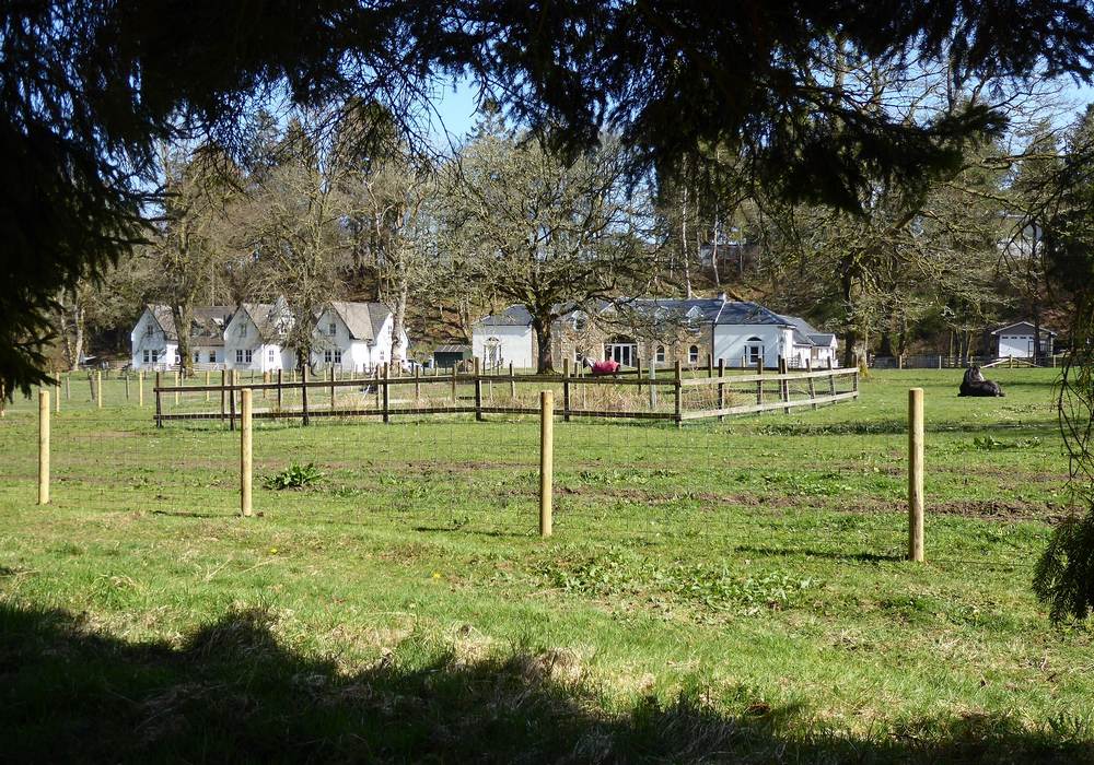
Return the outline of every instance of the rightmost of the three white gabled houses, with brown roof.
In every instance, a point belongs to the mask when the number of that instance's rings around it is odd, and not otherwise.
[[[339,372],[366,372],[392,360],[395,316],[383,303],[344,303],[323,306],[312,333],[311,364]],[[404,357],[409,346],[400,334]]]

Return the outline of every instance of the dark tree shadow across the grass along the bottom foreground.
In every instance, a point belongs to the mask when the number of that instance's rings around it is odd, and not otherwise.
[[[715,711],[701,693],[602,711],[565,650],[461,659],[407,638],[347,673],[287,649],[268,611],[173,647],[63,611],[0,605],[0,729],[11,762],[1078,762],[1089,730],[924,719],[858,739],[794,706]],[[1086,737],[1083,740],[1083,737]]]

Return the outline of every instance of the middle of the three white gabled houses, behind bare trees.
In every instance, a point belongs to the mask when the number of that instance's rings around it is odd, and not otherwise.
[[[283,297],[276,303],[243,303],[224,328],[226,368],[272,372],[295,366],[295,350],[284,348],[292,314]]]

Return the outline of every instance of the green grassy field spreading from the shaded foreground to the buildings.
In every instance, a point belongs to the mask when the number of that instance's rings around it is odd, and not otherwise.
[[[1089,626],[1029,591],[1067,458],[1052,370],[873,373],[683,429],[491,417],[155,429],[119,381],[0,421],[0,730],[19,760],[1094,761]],[[927,397],[927,563],[906,550]],[[148,403],[148,400],[147,400]]]

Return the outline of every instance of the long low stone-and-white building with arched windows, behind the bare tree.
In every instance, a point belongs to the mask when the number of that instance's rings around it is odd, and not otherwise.
[[[630,313],[631,316],[627,316]],[[761,305],[714,298],[662,299],[635,298],[619,306],[602,304],[593,317],[582,311],[563,313],[552,330],[552,355],[579,362],[582,356],[610,358],[625,366],[644,363],[713,363],[725,366],[776,367],[785,358],[791,367],[837,365],[838,343],[830,333],[819,332],[807,321],[780,316]],[[590,321],[590,318],[592,319]],[[596,331],[585,332],[585,325]],[[628,329],[633,323],[635,329]],[[665,330],[661,332],[660,330]],[[674,336],[668,341],[659,334]],[[512,363],[516,367],[536,365],[532,317],[523,306],[477,321],[472,333],[472,350],[487,367]]]

